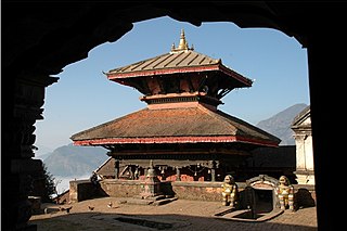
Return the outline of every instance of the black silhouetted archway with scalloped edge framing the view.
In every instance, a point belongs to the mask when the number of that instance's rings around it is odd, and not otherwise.
[[[88,51],[116,41],[132,23],[168,15],[200,26],[202,22],[232,22],[267,27],[294,36],[308,50],[311,119],[319,230],[334,230],[338,219],[331,203],[332,180],[339,167],[332,156],[344,116],[340,101],[340,57],[346,48],[338,3],[279,1],[16,1],[5,0],[2,15],[1,64],[1,221],[3,230],[36,230],[27,195],[30,176],[42,170],[33,159],[35,121],[42,119],[44,88],[62,68],[87,57]],[[330,80],[330,81],[329,81]],[[330,87],[331,86],[331,87]],[[337,104],[338,105],[338,104]],[[333,114],[333,112],[335,112]],[[342,143],[342,142],[340,142]],[[329,170],[326,170],[329,169]]]

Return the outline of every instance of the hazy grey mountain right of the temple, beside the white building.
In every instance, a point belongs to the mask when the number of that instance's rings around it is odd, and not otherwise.
[[[295,145],[294,131],[291,129],[291,126],[295,116],[305,107],[307,107],[305,103],[295,104],[268,119],[259,121],[256,126],[280,138],[282,140],[280,145]]]

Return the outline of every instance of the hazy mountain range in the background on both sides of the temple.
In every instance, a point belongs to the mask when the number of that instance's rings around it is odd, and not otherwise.
[[[306,104],[299,103],[259,121],[256,127],[281,139],[280,145],[295,145],[291,125]],[[75,146],[72,143],[60,146],[51,153],[38,156],[54,177],[76,177],[91,175],[108,156],[107,150],[99,146]]]

